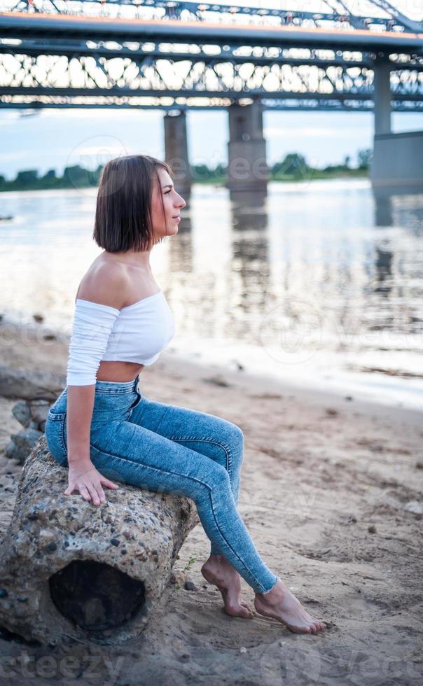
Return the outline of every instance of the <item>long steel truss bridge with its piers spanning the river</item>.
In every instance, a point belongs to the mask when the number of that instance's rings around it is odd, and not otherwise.
[[[423,23],[325,4],[0,0],[0,108],[162,109],[184,193],[187,110],[228,111],[228,187],[263,192],[263,111],[373,111],[373,186],[423,188],[423,132],[391,132],[391,111],[423,112]]]

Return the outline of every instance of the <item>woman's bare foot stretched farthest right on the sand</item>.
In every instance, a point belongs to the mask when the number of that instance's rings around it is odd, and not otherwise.
[[[268,593],[256,593],[254,607],[259,615],[279,619],[293,633],[317,633],[326,624],[309,615],[300,601],[278,580]]]

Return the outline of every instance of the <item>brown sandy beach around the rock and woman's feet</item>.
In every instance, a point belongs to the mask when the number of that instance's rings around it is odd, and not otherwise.
[[[3,330],[0,324],[1,365],[65,374],[63,342],[40,342],[37,325],[25,335],[8,326],[7,339]],[[268,566],[328,628],[296,635],[257,614],[226,615],[219,591],[200,573],[209,540],[199,525],[174,566],[179,584],[169,582],[137,640],[111,649],[69,639],[51,650],[4,633],[4,684],[421,682],[423,515],[410,505],[423,503],[421,414],[188,363],[166,351],[141,372],[139,388],[153,400],[242,428],[240,513]],[[21,428],[14,403],[0,397],[1,538],[21,471],[4,456],[11,433]],[[183,588],[181,573],[196,591]],[[242,589],[253,607],[244,580]]]

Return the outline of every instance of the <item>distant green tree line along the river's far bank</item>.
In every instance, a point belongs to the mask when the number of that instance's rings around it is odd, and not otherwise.
[[[331,179],[336,176],[367,176],[370,167],[372,151],[359,150],[357,166],[351,167],[351,158],[345,157],[343,164],[330,165],[324,169],[317,169],[308,165],[303,155],[289,153],[284,160],[269,167],[271,181],[305,181],[310,179]],[[4,190],[48,190],[50,188],[96,188],[102,173],[102,165],[91,171],[80,165],[66,167],[62,176],[57,176],[55,169],[49,169],[43,176],[38,169],[24,169],[16,174],[15,179],[8,181],[0,174],[0,191]],[[191,165],[193,181],[195,183],[225,183],[227,179],[227,165]]]

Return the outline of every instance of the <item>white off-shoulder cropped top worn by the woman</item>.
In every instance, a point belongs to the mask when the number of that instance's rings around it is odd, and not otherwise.
[[[67,386],[95,384],[103,360],[153,364],[174,332],[174,317],[162,290],[122,309],[77,298]]]

